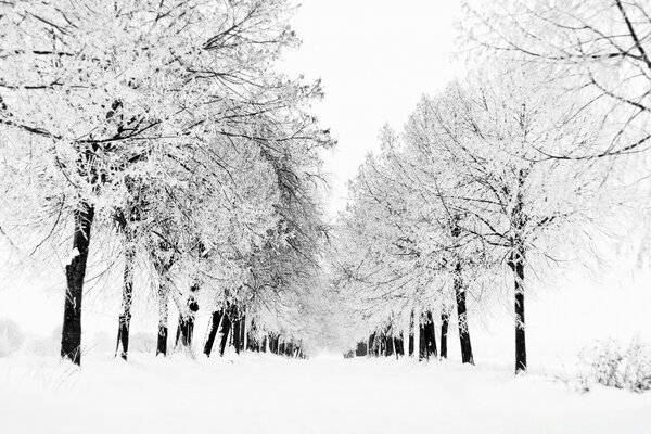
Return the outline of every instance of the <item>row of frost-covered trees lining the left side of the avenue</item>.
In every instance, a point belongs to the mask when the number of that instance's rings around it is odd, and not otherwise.
[[[125,359],[146,282],[158,354],[170,298],[177,343],[203,305],[206,354],[218,328],[221,353],[231,329],[242,349],[245,323],[252,347],[303,354],[333,140],[310,114],[319,82],[275,69],[297,44],[291,14],[284,0],[0,5],[0,228],[14,255],[65,268],[63,358],[81,360],[89,272],[117,267]]]

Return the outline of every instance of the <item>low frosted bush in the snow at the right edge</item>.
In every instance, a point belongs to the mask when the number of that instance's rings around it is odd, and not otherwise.
[[[580,355],[579,385],[589,391],[593,384],[641,393],[651,390],[651,353],[634,339],[628,348],[613,340],[597,343]]]

